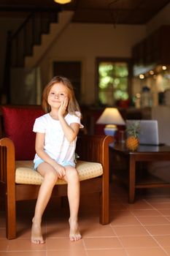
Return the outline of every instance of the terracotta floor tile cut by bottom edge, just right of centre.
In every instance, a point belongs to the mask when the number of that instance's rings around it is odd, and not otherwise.
[[[88,249],[88,256],[126,256],[124,249]]]

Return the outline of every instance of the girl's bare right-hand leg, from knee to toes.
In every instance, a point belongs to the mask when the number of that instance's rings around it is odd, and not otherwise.
[[[70,209],[70,241],[77,241],[81,238],[79,227],[78,227],[78,211],[80,204],[80,181],[77,170],[72,166],[66,166],[66,179],[68,183],[68,199]]]

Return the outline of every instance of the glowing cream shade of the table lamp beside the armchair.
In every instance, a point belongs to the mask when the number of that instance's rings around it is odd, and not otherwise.
[[[125,125],[125,121],[117,108],[105,108],[104,112],[96,121],[96,124]]]

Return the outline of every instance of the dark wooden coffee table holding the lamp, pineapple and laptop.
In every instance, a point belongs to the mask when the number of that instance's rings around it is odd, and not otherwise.
[[[114,155],[112,155],[114,154]],[[112,161],[112,157],[125,157],[128,160],[128,202],[134,203],[135,189],[136,188],[155,188],[155,187],[170,187],[168,182],[164,182],[159,178],[145,178],[145,180],[139,180],[136,182],[136,172],[138,171],[136,166],[137,162],[158,162],[158,161],[170,161],[170,146],[145,146],[141,145],[139,148],[132,152],[128,151],[125,147],[125,143],[112,143],[109,145],[109,157]],[[114,162],[112,162],[114,169]],[[123,170],[125,172],[125,170]],[[170,171],[170,170],[169,170]],[[125,173],[121,174],[125,176]]]

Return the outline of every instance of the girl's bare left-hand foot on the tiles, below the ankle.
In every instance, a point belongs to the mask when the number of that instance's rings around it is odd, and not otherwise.
[[[32,220],[32,230],[31,230],[31,242],[33,244],[44,244],[45,241],[42,238],[42,228],[41,224]]]

